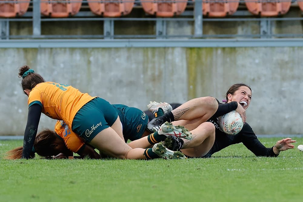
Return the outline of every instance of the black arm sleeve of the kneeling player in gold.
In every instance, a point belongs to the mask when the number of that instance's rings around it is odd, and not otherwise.
[[[42,107],[33,104],[28,108],[27,124],[24,132],[22,158],[28,159],[32,153],[36,138],[38,125],[41,117]]]

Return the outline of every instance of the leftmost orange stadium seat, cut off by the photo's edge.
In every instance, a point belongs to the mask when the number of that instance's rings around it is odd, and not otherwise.
[[[0,0],[0,2],[1,1],[4,0]],[[11,2],[12,3],[0,3],[0,17],[12,18],[25,14],[30,1],[28,0],[28,2],[25,2],[25,0],[12,0]]]

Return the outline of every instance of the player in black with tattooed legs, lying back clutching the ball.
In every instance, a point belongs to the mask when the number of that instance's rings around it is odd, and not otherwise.
[[[188,157],[211,157],[215,152],[224,149],[227,146],[243,143],[252,153],[256,156],[264,157],[277,157],[281,151],[293,149],[295,140],[291,138],[285,138],[279,140],[272,147],[265,147],[257,138],[251,126],[248,123],[244,123],[242,130],[236,135],[228,135],[224,133],[219,124],[218,117],[226,114],[232,110],[236,110],[240,113],[243,122],[246,121],[245,110],[248,108],[251,101],[251,88],[244,83],[237,83],[232,85],[226,93],[226,102],[220,103],[218,99],[213,97],[201,97],[192,99],[183,105],[177,107],[171,112],[164,111],[164,115],[161,116],[161,107],[157,104],[151,103],[149,109],[154,113],[158,113],[158,117],[151,120],[148,123],[147,128],[149,130],[157,130],[158,126],[165,121],[172,122],[174,125],[185,126],[188,130],[192,131],[204,122],[212,123],[214,126],[205,125],[208,130],[215,130],[215,133],[207,133],[208,136],[202,142],[192,146],[190,149],[182,149],[184,145],[191,145],[195,140],[183,140],[179,138],[170,137],[167,140],[169,149],[181,150]],[[161,103],[163,105],[163,103]],[[160,116],[159,116],[160,115]],[[211,134],[215,134],[211,137]],[[205,142],[207,140],[207,142]]]

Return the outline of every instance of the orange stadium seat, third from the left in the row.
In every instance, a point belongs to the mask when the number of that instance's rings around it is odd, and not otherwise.
[[[103,0],[96,2],[96,0],[88,0],[88,6],[96,15],[104,17],[120,17],[132,12],[134,7],[132,0]]]

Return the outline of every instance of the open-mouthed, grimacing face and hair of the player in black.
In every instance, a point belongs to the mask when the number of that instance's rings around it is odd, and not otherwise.
[[[251,101],[251,89],[247,86],[240,86],[234,93],[227,94],[228,103],[236,101],[246,110]]]

